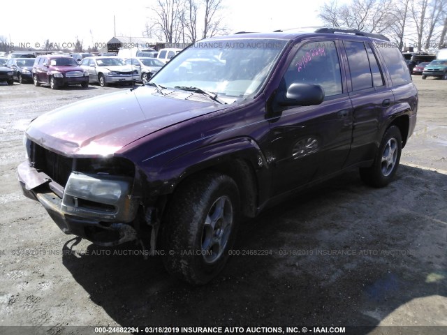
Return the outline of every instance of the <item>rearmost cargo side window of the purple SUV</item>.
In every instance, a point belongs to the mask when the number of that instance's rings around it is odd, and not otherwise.
[[[376,43],[383,60],[385,61],[388,72],[390,73],[393,86],[400,86],[411,82],[410,71],[402,53],[391,43]]]

